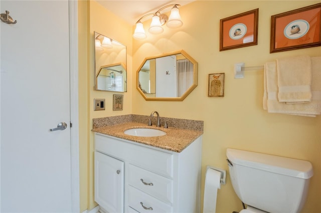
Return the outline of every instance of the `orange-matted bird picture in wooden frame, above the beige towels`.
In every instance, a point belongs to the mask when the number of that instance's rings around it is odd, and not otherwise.
[[[321,3],[271,16],[270,53],[321,45]]]

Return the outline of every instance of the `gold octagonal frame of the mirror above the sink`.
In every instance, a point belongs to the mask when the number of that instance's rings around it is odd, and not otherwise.
[[[185,56],[191,63],[193,63],[193,84],[182,94],[180,97],[147,97],[145,93],[141,90],[139,87],[139,71],[142,69],[143,65],[145,62],[149,59],[155,59],[159,57],[165,57],[165,56],[170,56],[170,55],[176,55],[176,54],[182,54]],[[140,64],[137,72],[136,72],[136,88],[139,91],[139,93],[143,96],[145,100],[164,100],[164,101],[182,101],[184,100],[192,91],[193,89],[197,86],[197,81],[198,81],[198,63],[194,58],[192,58],[187,52],[184,50],[180,51],[175,51],[171,53],[165,53],[157,56],[150,56],[150,57],[145,57],[143,62]]]

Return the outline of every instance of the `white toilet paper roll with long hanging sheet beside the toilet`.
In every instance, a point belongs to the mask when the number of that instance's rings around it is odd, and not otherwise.
[[[221,172],[208,168],[205,175],[203,213],[216,212],[217,189],[221,188]]]

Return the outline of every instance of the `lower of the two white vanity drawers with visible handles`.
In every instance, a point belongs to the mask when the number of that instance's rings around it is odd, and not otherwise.
[[[172,206],[132,186],[128,186],[128,205],[139,212],[172,212]]]

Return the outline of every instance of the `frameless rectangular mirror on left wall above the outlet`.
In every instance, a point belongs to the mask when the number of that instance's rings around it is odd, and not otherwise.
[[[126,46],[94,32],[95,88],[127,91]]]

